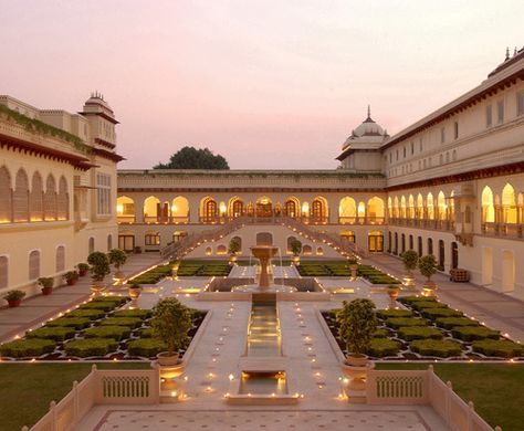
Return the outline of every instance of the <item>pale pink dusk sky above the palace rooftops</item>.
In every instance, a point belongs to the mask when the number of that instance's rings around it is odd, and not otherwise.
[[[523,45],[523,0],[0,0],[0,94],[122,123],[120,168],[185,145],[232,169],[332,169],[371,116],[390,135]]]

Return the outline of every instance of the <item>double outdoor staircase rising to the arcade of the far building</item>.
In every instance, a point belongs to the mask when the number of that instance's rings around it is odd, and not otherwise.
[[[344,241],[332,233],[318,232],[314,228],[311,228],[291,217],[253,218],[243,216],[233,219],[226,224],[220,224],[214,229],[208,229],[199,233],[191,233],[178,242],[172,242],[160,250],[160,255],[164,259],[181,259],[205,242],[218,241],[247,224],[281,224],[306,240],[327,244],[342,255],[349,256],[356,254],[364,257],[367,254],[365,250],[361,250],[353,242]]]

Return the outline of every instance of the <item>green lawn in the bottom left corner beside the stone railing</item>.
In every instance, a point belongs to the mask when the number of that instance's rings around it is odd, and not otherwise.
[[[1,364],[0,430],[32,427],[49,411],[49,403],[60,401],[91,371],[93,364]],[[149,369],[143,364],[97,364],[99,369]]]

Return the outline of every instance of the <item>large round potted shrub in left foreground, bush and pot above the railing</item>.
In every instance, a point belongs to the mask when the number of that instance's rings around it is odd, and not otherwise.
[[[178,350],[187,346],[188,330],[192,327],[192,312],[175,297],[160,299],[153,308],[153,336],[167,345],[167,351],[157,355],[158,364],[178,364]]]

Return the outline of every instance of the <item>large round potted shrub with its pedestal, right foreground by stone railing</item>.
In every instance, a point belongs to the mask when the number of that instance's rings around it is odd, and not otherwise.
[[[377,329],[375,304],[367,298],[344,301],[337,313],[338,335],[346,343],[347,356],[343,371],[350,377],[349,389],[364,390],[367,369],[370,368],[366,351],[373,333]]]

